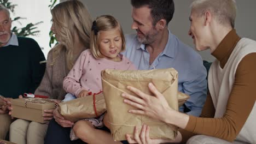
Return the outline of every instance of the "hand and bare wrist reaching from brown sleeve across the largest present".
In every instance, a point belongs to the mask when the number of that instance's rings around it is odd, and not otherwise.
[[[173,124],[184,129],[188,124],[189,116],[173,110],[168,105],[164,95],[162,95],[152,83],[149,83],[148,87],[155,96],[145,94],[134,87],[127,87],[131,92],[138,95],[138,97],[135,97],[127,93],[122,94],[125,98],[124,103],[137,108],[136,110],[129,110],[129,112],[158,119],[167,124]]]

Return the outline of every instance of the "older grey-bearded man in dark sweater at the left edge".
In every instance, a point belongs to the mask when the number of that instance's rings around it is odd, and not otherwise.
[[[17,37],[11,33],[11,19],[7,8],[0,5],[0,94],[10,104],[9,98],[31,92],[38,87],[45,70],[42,50],[31,38]],[[0,139],[4,139],[11,123],[8,105],[0,108]]]

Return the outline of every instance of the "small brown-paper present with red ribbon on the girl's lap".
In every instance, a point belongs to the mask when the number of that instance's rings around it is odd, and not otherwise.
[[[95,118],[106,112],[102,92],[59,103],[59,108],[61,115],[72,122],[83,118]]]

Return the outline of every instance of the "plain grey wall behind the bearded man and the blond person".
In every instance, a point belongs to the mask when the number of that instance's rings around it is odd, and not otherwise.
[[[63,1],[63,0],[62,0]],[[87,5],[91,15],[96,17],[102,14],[111,14],[120,21],[125,33],[134,33],[131,29],[131,4],[130,0],[81,0]],[[188,36],[189,29],[189,5],[192,0],[174,0],[175,13],[169,24],[171,32],[176,34],[184,43],[194,47],[192,39]],[[241,37],[248,37],[256,40],[256,5],[255,0],[237,0],[237,19],[235,28]],[[199,52],[203,59],[213,61],[210,51]]]

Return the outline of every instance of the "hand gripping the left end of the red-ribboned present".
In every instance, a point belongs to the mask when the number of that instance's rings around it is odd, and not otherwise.
[[[59,113],[59,107],[57,107],[54,112],[54,119],[55,121],[60,124],[62,127],[72,127],[74,125],[73,122],[68,121],[67,119],[65,119],[60,113]]]

